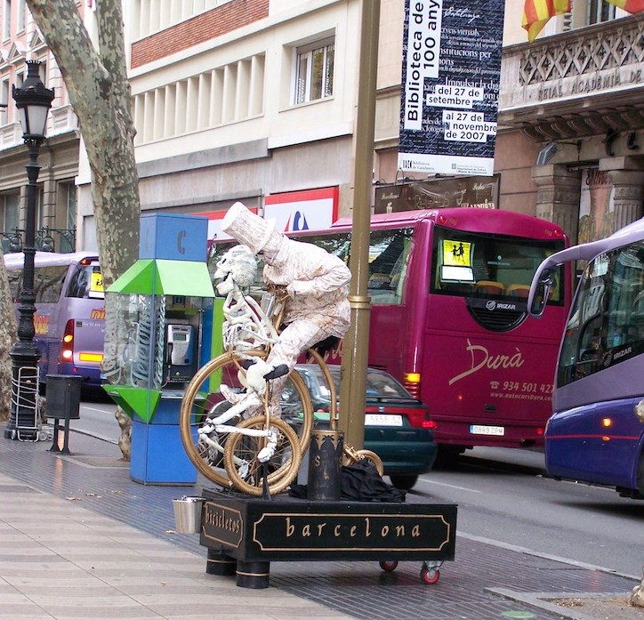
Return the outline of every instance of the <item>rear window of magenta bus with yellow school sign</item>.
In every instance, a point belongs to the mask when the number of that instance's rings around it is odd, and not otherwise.
[[[431,293],[463,297],[526,299],[536,268],[561,243],[509,238],[436,226],[432,251]],[[555,278],[549,303],[561,305]]]

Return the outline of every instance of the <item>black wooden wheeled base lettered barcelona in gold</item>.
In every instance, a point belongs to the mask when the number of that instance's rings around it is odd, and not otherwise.
[[[269,586],[270,561],[454,560],[456,504],[271,500],[205,489],[206,572]],[[235,568],[233,568],[235,567]]]

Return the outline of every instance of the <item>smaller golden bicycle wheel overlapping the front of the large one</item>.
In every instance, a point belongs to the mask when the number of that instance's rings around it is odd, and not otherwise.
[[[232,487],[246,495],[263,495],[266,468],[270,495],[283,491],[293,482],[302,463],[302,451],[295,431],[279,418],[270,418],[267,423],[266,415],[244,420],[237,427],[259,432],[270,428],[277,432],[278,444],[270,460],[260,463],[257,455],[268,439],[265,436],[231,433],[223,453],[223,463]]]

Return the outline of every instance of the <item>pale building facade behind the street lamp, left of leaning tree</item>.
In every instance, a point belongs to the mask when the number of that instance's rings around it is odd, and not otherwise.
[[[78,3],[79,10],[83,4]],[[27,77],[27,60],[41,62],[41,79],[54,89],[55,99],[47,121],[48,140],[40,149],[40,188],[36,213],[37,249],[70,252],[76,247],[76,176],[80,132],[67,91],[31,19],[24,0],[4,0],[0,24],[0,239],[4,252],[20,250],[24,239],[27,191],[27,148],[12,86],[20,87]]]

